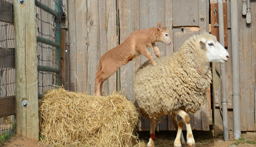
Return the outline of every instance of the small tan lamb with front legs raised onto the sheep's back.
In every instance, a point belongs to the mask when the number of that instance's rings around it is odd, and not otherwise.
[[[155,55],[160,57],[160,51],[155,42],[162,42],[166,45],[171,44],[169,30],[164,28],[161,23],[157,23],[157,28],[152,27],[133,31],[122,44],[107,51],[101,57],[99,68],[95,75],[95,96],[101,96],[103,82],[133,58],[142,54],[155,66],[156,63],[153,57],[147,51],[147,48],[153,46]]]

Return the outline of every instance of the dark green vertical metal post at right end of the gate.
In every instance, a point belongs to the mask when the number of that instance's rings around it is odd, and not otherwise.
[[[60,18],[60,1],[56,0],[55,10],[58,12],[58,17],[55,18],[56,21],[56,42],[61,44],[61,18]],[[56,48],[56,68],[61,68],[61,47]],[[56,74],[56,86],[61,86],[61,73]]]

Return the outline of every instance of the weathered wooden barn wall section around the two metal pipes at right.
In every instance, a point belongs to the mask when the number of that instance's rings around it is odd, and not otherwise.
[[[251,23],[246,23],[246,16],[242,15],[242,1],[238,1],[238,23],[239,23],[239,61],[240,61],[240,113],[241,113],[241,131],[256,131],[255,123],[255,57],[256,57],[256,1],[251,2]],[[218,3],[211,0],[212,5]],[[231,46],[231,13],[230,0],[227,0],[227,26],[228,26],[228,46],[227,51],[232,54]],[[214,13],[211,12],[211,17]],[[213,18],[211,19],[213,22]],[[225,20],[224,20],[225,22]],[[213,25],[215,22],[211,23]],[[213,28],[213,27],[212,27]],[[211,30],[213,34],[213,30]],[[219,35],[219,34],[218,34]],[[225,40],[226,41],[226,40]],[[226,83],[228,99],[228,120],[229,130],[233,130],[233,98],[232,98],[232,56],[226,64]],[[223,122],[220,111],[220,78],[218,73],[218,64],[213,64],[213,117],[215,131],[222,131]],[[218,100],[219,99],[219,100]]]

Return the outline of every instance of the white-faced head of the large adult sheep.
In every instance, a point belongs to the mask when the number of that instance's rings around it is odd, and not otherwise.
[[[200,47],[206,52],[209,62],[221,62],[224,64],[229,60],[228,51],[217,41],[216,37],[204,33],[199,38]]]

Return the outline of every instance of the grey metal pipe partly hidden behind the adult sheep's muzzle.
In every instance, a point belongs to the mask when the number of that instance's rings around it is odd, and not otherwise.
[[[219,36],[220,44],[224,47],[224,19],[223,19],[223,0],[218,1],[219,12]],[[221,97],[222,97],[222,112],[223,112],[223,135],[224,140],[229,140],[229,127],[228,127],[228,100],[227,100],[227,87],[226,87],[226,66],[221,65]]]

